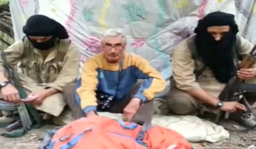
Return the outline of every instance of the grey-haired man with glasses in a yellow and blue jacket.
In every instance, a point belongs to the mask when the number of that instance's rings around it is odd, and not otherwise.
[[[147,60],[125,53],[126,39],[120,31],[106,31],[101,48],[102,53],[90,57],[84,64],[81,86],[77,89],[81,107],[74,104],[73,94],[65,95],[74,117],[85,114],[91,117],[97,115],[97,111],[109,111],[123,113],[127,121],[151,122],[152,99],[166,86],[163,77]],[[138,82],[138,79],[144,81]],[[69,88],[75,90],[75,85]]]

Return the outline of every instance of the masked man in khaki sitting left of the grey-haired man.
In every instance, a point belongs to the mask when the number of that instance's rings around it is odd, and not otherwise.
[[[28,96],[29,102],[44,115],[57,117],[63,111],[63,87],[75,82],[79,71],[79,51],[68,40],[65,28],[44,15],[33,15],[23,27],[26,37],[11,45],[6,51],[11,65],[20,63],[18,74]],[[18,103],[18,90],[7,79],[3,61],[0,61],[0,85],[3,100]],[[45,117],[46,118],[46,117]]]

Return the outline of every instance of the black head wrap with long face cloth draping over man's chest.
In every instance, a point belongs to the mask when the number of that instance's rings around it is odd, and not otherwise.
[[[229,26],[230,30],[220,41],[216,41],[207,31],[210,26]],[[212,69],[214,77],[222,83],[228,82],[236,70],[234,45],[237,32],[234,15],[220,11],[206,15],[195,28],[197,53],[202,57],[205,66]]]

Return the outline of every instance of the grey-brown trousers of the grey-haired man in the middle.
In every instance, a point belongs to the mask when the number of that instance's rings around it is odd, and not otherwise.
[[[119,101],[116,104],[112,105],[107,111],[110,113],[123,113],[123,109],[130,102],[133,95],[137,93],[137,90],[139,89],[141,84],[142,84],[141,82],[135,84],[133,90],[131,90],[131,92],[122,101]],[[75,98],[74,98],[75,92],[76,92],[75,84],[69,84],[64,88],[65,101],[67,102],[68,106],[72,110],[73,117],[75,119],[79,119],[81,117],[85,117],[85,114],[84,114],[84,111],[82,111],[81,107],[77,105],[75,101]],[[153,114],[154,114],[154,105],[153,105],[153,101],[151,100],[143,103],[139,107],[132,121],[137,123],[151,122]]]

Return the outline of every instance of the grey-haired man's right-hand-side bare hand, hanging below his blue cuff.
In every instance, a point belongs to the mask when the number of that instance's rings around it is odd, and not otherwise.
[[[127,121],[131,121],[131,118],[137,113],[141,100],[139,98],[132,98],[129,104],[123,109],[123,117]]]

